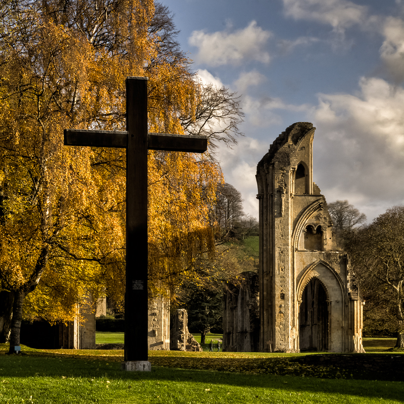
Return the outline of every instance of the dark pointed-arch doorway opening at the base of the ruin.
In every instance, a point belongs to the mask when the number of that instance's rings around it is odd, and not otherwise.
[[[299,309],[300,351],[328,350],[327,293],[317,278],[306,285]]]

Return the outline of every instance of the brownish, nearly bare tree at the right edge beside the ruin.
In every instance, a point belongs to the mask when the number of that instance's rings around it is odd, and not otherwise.
[[[396,331],[396,347],[404,348],[404,207],[348,232],[345,244],[371,321]]]

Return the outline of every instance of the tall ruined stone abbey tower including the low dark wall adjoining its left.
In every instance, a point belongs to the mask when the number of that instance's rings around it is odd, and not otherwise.
[[[227,292],[228,351],[364,351],[363,302],[313,182],[315,129],[289,126],[258,163],[259,274]]]

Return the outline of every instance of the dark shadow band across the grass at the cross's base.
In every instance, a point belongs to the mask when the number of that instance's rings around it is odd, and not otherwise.
[[[0,378],[102,378],[130,382],[158,381],[160,383],[186,383],[192,389],[194,383],[237,387],[270,388],[287,392],[309,392],[352,395],[402,401],[402,382],[321,379],[313,377],[289,377],[271,374],[243,374],[194,369],[170,369],[156,365],[151,372],[123,372],[120,363],[72,358],[33,356],[0,357]]]

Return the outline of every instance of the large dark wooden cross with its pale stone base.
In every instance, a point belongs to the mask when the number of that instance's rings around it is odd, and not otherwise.
[[[147,132],[147,77],[126,79],[126,131],[65,129],[67,146],[126,148],[126,370],[147,362],[147,149],[203,153],[205,136]],[[148,365],[147,365],[148,364]]]

